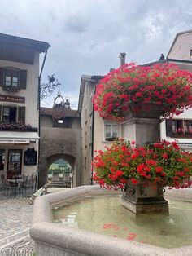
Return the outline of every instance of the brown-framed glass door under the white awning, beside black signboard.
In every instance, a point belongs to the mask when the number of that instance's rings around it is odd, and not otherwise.
[[[22,149],[9,149],[7,160],[7,179],[21,174]]]

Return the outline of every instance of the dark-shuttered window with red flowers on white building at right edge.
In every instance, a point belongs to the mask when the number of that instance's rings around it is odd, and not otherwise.
[[[173,138],[192,138],[192,120],[166,120],[166,135]]]

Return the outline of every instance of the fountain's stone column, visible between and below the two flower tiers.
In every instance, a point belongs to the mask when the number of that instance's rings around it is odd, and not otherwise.
[[[160,140],[161,108],[153,106],[149,111],[128,113],[124,115],[124,139],[135,141],[138,146],[155,143]],[[127,184],[127,190],[121,198],[121,205],[134,214],[168,213],[168,201],[164,200],[163,188],[146,187],[145,183]]]

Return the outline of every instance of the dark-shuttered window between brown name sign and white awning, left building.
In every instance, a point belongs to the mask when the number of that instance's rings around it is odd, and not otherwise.
[[[0,105],[0,121],[25,124],[25,107],[1,106]]]

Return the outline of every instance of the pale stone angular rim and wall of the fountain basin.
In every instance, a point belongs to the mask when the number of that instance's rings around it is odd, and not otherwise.
[[[30,236],[35,241],[37,255],[191,255],[192,246],[165,249],[52,223],[51,209],[56,205],[63,205],[65,201],[76,200],[81,196],[108,193],[98,186],[85,186],[37,197],[34,202],[33,223],[30,229]],[[170,195],[180,200],[183,193],[186,193],[185,197],[188,198],[186,190],[179,191],[179,193],[171,191]]]

